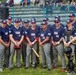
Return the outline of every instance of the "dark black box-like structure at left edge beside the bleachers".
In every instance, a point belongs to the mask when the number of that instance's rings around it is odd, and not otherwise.
[[[7,19],[9,16],[8,7],[0,7],[0,19]]]

